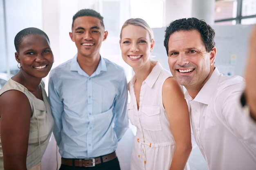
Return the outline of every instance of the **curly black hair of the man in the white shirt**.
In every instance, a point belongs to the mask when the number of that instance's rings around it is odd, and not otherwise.
[[[197,30],[204,42],[205,49],[207,52],[210,52],[215,46],[214,36],[215,32],[213,28],[209,24],[207,24],[204,20],[198,20],[197,18],[182,18],[179,20],[175,20],[171,22],[166,30],[164,35],[164,47],[166,48],[166,53],[168,55],[168,43],[171,34],[176,31],[191,31]]]

